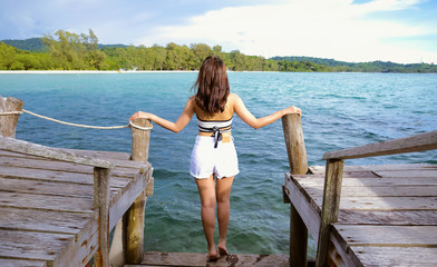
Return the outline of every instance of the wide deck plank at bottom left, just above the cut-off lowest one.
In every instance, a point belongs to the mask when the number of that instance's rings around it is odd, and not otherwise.
[[[74,235],[0,229],[0,258],[55,260]]]

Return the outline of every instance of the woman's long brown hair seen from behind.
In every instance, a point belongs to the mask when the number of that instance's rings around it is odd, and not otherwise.
[[[201,109],[210,115],[223,112],[230,95],[230,82],[223,60],[217,56],[208,56],[203,61],[192,88],[197,88],[194,100]]]

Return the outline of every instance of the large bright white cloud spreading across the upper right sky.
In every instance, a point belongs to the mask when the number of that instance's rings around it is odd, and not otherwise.
[[[152,46],[205,42],[225,51],[246,55],[310,56],[346,61],[385,60],[437,62],[437,52],[389,42],[390,39],[427,34],[425,28],[368,14],[414,8],[416,0],[291,0],[282,4],[224,8],[192,17],[184,26],[159,27],[136,42]]]

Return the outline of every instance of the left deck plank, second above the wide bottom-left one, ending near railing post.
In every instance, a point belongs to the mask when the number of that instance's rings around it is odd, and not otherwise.
[[[1,192],[0,207],[28,208],[54,211],[93,214],[93,199],[46,196],[19,192]]]

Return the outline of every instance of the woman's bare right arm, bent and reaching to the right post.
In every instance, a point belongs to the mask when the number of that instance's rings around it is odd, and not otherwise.
[[[288,113],[297,113],[299,116],[302,115],[302,110],[300,108],[297,108],[294,106],[290,106],[285,109],[281,109],[274,113],[271,113],[269,116],[262,117],[262,118],[255,118],[255,116],[253,116],[251,113],[251,111],[247,110],[247,108],[244,106],[243,100],[236,96],[235,93],[233,93],[234,96],[234,110],[235,113],[249,126],[253,127],[254,129],[259,129],[262,128],[266,125],[270,125],[274,121],[276,121],[278,119],[280,119],[282,116],[288,115]]]

